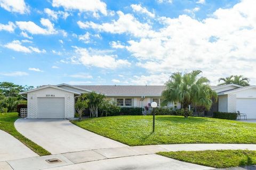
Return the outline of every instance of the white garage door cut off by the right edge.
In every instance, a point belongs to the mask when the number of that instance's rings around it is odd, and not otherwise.
[[[256,118],[256,99],[255,98],[237,98],[236,109],[240,113],[245,113],[247,118]]]

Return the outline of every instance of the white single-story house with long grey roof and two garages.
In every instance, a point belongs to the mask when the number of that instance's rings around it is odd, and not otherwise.
[[[71,86],[47,85],[20,94],[28,100],[28,118],[73,118],[75,98],[95,91],[116,101],[121,107],[144,107],[153,101],[159,105],[165,86]],[[218,103],[211,112],[246,113],[247,118],[256,118],[256,86],[242,87],[236,84],[212,86],[218,93]],[[180,108],[179,103],[167,107]]]

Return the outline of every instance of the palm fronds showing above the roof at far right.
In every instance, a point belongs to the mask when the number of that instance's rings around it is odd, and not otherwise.
[[[243,75],[230,75],[229,77],[226,78],[220,78],[219,82],[223,81],[222,83],[218,84],[220,85],[225,85],[225,84],[237,84],[239,86],[250,86],[249,78],[245,78]]]

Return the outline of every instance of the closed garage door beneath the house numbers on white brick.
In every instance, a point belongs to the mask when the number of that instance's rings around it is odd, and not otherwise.
[[[38,97],[38,118],[65,118],[64,98]]]

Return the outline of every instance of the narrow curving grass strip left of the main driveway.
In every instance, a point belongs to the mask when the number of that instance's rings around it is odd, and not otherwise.
[[[0,130],[11,134],[14,138],[17,138],[19,141],[24,143],[27,147],[29,147],[40,156],[51,155],[49,151],[24,137],[15,129],[14,122],[18,118],[18,113],[0,113]]]

